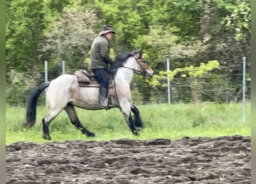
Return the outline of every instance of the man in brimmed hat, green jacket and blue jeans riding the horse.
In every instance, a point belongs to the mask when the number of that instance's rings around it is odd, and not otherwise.
[[[116,32],[114,32],[110,25],[102,26],[100,34],[94,39],[91,45],[90,67],[100,82],[100,106],[103,109],[112,107],[108,103],[107,97],[109,79],[106,69],[109,64],[114,63],[109,55],[110,39],[113,33],[115,34]]]

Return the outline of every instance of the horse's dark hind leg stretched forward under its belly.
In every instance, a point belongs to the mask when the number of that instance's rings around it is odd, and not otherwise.
[[[67,104],[67,106],[64,108],[66,110],[68,117],[70,117],[70,121],[75,127],[81,130],[82,133],[86,134],[87,136],[94,137],[95,133],[88,131],[81,122],[78,119],[77,112],[75,112],[74,105],[72,104]]]

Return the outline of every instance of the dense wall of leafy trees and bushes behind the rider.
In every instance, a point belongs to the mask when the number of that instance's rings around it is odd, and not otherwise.
[[[181,79],[174,80],[185,87],[171,81],[177,101],[196,99],[193,95],[199,95],[198,101],[237,100],[241,97],[243,56],[246,57],[246,86],[250,90],[250,22],[249,0],[6,1],[6,71],[42,72],[44,60],[49,61],[49,79],[62,72],[62,60],[66,61],[67,72],[87,69],[93,38],[102,24],[110,24],[117,32],[111,41],[112,56],[143,48],[144,58],[156,74],[152,86],[164,87],[166,76],[173,77],[163,72],[167,58],[171,71],[218,60],[221,70],[204,74],[215,76],[216,80],[197,78],[192,85],[194,76],[189,76],[188,71],[178,72]],[[6,78],[11,78],[9,74]],[[41,80],[36,81],[37,85]],[[161,93],[162,88],[149,86],[139,77],[132,85],[143,101],[153,98],[164,101],[160,95],[152,97],[152,91]],[[198,85],[204,86],[203,94],[193,87]],[[213,85],[216,89],[211,88]],[[15,87],[10,82],[6,87],[12,88],[6,90],[8,93],[18,91],[13,90]],[[193,94],[194,91],[197,93]],[[25,98],[25,94],[20,98]],[[7,98],[13,95],[7,94]]]

